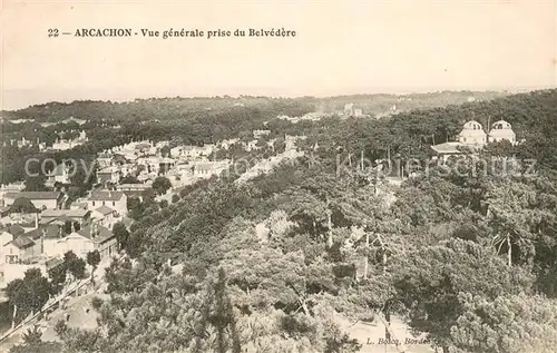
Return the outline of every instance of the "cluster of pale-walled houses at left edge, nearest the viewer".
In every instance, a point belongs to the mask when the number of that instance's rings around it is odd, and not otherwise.
[[[0,218],[0,266],[40,264],[59,258],[68,251],[85,257],[98,251],[101,258],[116,252],[113,227],[130,225],[126,216],[127,196],[123,192],[97,190],[61,208],[63,194],[20,192],[3,197]],[[26,204],[27,203],[27,204]],[[28,207],[16,207],[29,205]],[[3,273],[6,277],[6,271]]]

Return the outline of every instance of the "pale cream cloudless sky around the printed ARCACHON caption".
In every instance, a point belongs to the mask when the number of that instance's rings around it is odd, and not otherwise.
[[[3,0],[0,109],[48,101],[557,85],[557,0]],[[130,28],[131,38],[48,37]],[[140,29],[294,38],[143,38]]]

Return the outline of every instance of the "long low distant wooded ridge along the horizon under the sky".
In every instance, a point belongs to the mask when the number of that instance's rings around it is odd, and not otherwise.
[[[81,100],[70,104],[49,102],[36,105],[16,111],[1,111],[4,119],[36,119],[37,121],[58,121],[69,117],[80,119],[115,119],[121,120],[152,120],[173,119],[180,115],[194,114],[205,109],[223,110],[231,107],[257,107],[263,111],[274,106],[275,109],[295,105],[299,111],[292,115],[302,115],[306,111],[333,112],[342,110],[345,104],[353,102],[365,114],[388,111],[393,105],[399,110],[423,109],[459,105],[475,100],[490,100],[505,97],[506,92],[496,91],[442,91],[433,94],[412,95],[354,95],[326,98],[267,98],[267,97],[206,97],[206,98],[153,98],[136,99],[129,102]]]

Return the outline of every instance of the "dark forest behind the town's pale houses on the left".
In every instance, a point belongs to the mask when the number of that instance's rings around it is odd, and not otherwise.
[[[193,106],[185,105],[186,108],[176,108],[176,105],[153,100],[152,102],[140,101],[137,105],[129,104],[133,107],[129,109],[117,108],[126,106],[125,104],[80,101],[70,105],[42,105],[17,111],[14,114],[18,114],[18,117],[32,116],[36,120],[17,125],[2,124],[0,182],[10,184],[25,180],[25,161],[29,158],[37,158],[40,161],[53,158],[58,163],[69,158],[90,161],[105,149],[141,139],[154,141],[173,139],[176,144],[186,145],[216,143],[245,135],[245,133],[251,134],[253,129],[261,128],[265,120],[275,118],[280,114],[302,115],[312,109],[310,106],[290,99],[261,98],[257,99],[261,104],[254,107],[228,105],[222,109],[217,109],[218,101],[218,99],[211,100],[212,106],[216,105],[214,110],[204,108],[205,100]],[[168,107],[174,107],[176,110],[168,109]],[[59,120],[70,112],[74,117],[90,118],[90,120],[82,126],[78,126],[77,122],[40,126],[38,117],[48,115],[58,117]],[[88,143],[63,151],[40,153],[37,145],[18,147],[16,144],[6,144],[26,138],[31,141],[39,139],[51,146],[60,131],[76,130],[85,130],[89,138]],[[32,173],[38,170],[32,170]],[[32,183],[32,180],[29,182]]]

